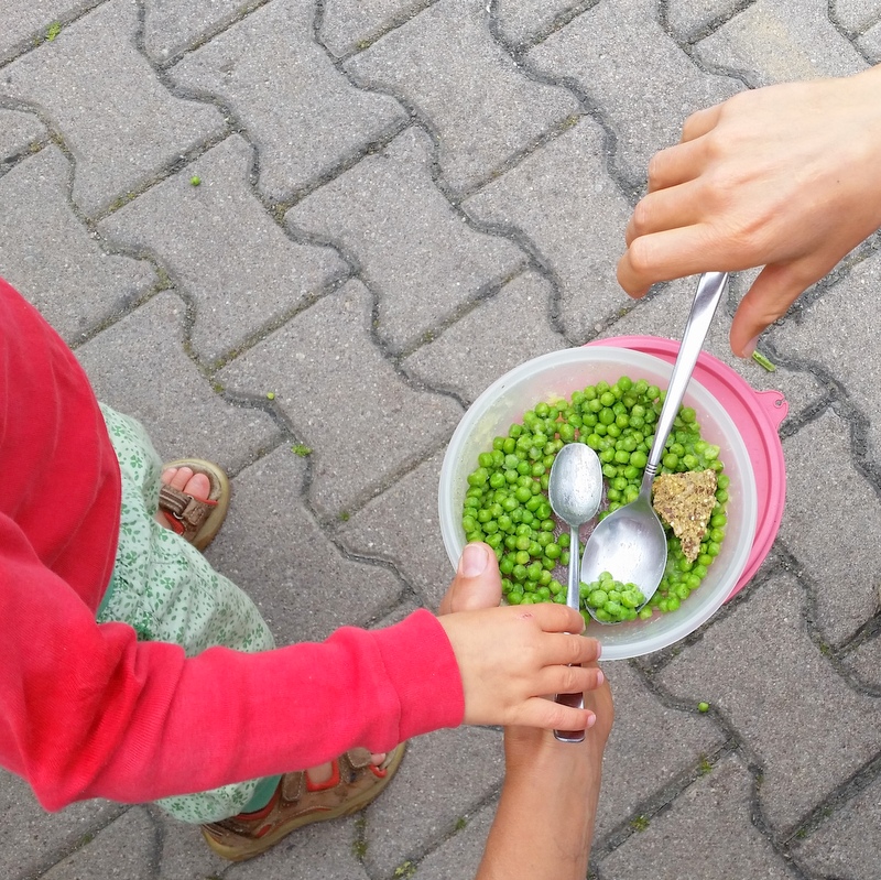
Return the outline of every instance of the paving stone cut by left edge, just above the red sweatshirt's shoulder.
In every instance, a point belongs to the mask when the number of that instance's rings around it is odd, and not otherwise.
[[[67,200],[70,166],[51,145],[0,177],[0,265],[69,345],[144,295],[144,261],[105,252]]]

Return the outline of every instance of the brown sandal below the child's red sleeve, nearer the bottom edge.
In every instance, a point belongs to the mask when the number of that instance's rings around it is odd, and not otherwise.
[[[313,784],[304,771],[285,773],[272,800],[254,813],[202,826],[208,846],[230,861],[259,856],[296,828],[348,816],[367,806],[391,781],[404,743],[374,767],[367,749],[352,749],[331,762],[327,782]]]

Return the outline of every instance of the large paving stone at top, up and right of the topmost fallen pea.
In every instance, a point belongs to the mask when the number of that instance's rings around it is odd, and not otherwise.
[[[312,39],[314,15],[312,0],[273,0],[171,68],[243,122],[273,199],[290,200],[407,119],[394,98],[355,88],[334,66]]]

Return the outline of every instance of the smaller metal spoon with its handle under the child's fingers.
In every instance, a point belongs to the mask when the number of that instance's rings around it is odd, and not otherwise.
[[[569,588],[566,605],[579,610],[578,529],[597,514],[602,500],[602,466],[597,454],[584,443],[569,443],[554,459],[547,478],[547,497],[551,508],[569,526]],[[556,702],[583,709],[584,694],[557,694]],[[581,742],[584,730],[555,730],[562,742]]]

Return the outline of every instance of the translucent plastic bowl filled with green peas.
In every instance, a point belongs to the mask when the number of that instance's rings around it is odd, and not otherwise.
[[[584,547],[596,522],[639,491],[671,372],[653,355],[587,346],[533,358],[487,388],[454,432],[440,469],[440,531],[454,567],[467,542],[483,541],[499,559],[505,602],[565,602],[568,529],[547,499],[554,457],[567,443],[586,443],[600,457],[603,500],[597,520],[580,531]],[[671,530],[652,605],[622,608],[621,622],[608,626],[585,605],[597,585],[583,584],[586,633],[602,643],[605,660],[648,654],[688,635],[732,593],[750,559],[758,517],[750,456],[726,409],[695,379],[659,474],[686,470],[716,475],[697,557],[685,557]]]

